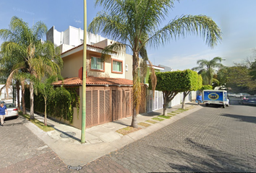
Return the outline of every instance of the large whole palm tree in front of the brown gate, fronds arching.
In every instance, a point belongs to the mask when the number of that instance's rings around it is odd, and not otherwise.
[[[96,0],[106,12],[100,12],[90,23],[90,32],[101,32],[117,42],[103,50],[132,50],[133,76],[133,115],[132,127],[137,128],[137,112],[140,107],[140,76],[139,55],[146,57],[146,46],[157,48],[171,39],[197,34],[205,38],[205,42],[213,47],[221,40],[221,30],[210,17],[204,15],[183,15],[176,17],[164,27],[163,19],[169,9],[174,7],[173,0]]]

